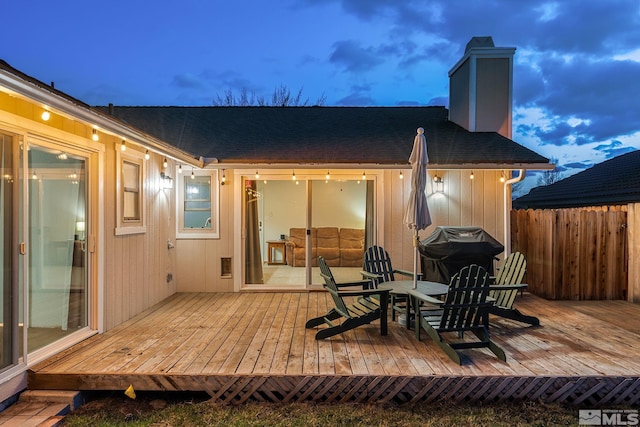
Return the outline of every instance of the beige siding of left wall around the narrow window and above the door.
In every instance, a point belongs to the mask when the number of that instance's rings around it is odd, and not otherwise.
[[[22,134],[37,134],[55,141],[90,140],[92,124],[52,114],[46,123],[40,119],[42,107],[26,99],[0,91],[0,126],[11,127]],[[92,301],[93,307],[104,308],[103,328],[109,330],[132,318],[176,292],[175,281],[167,283],[166,274],[175,276],[175,250],[167,249],[167,241],[175,241],[173,216],[174,193],[160,190],[162,157],[152,154],[147,161],[146,190],[147,231],[143,234],[116,236],[116,148],[121,140],[101,134],[104,146],[104,271],[94,268],[92,289],[95,295],[99,275],[104,283],[104,300]],[[72,142],[69,142],[72,144]],[[130,149],[136,149],[133,146]],[[95,171],[93,171],[95,173]],[[97,209],[98,200],[90,201]],[[97,242],[97,248],[100,242]],[[95,310],[94,310],[95,311]],[[95,321],[95,317],[94,317]]]

